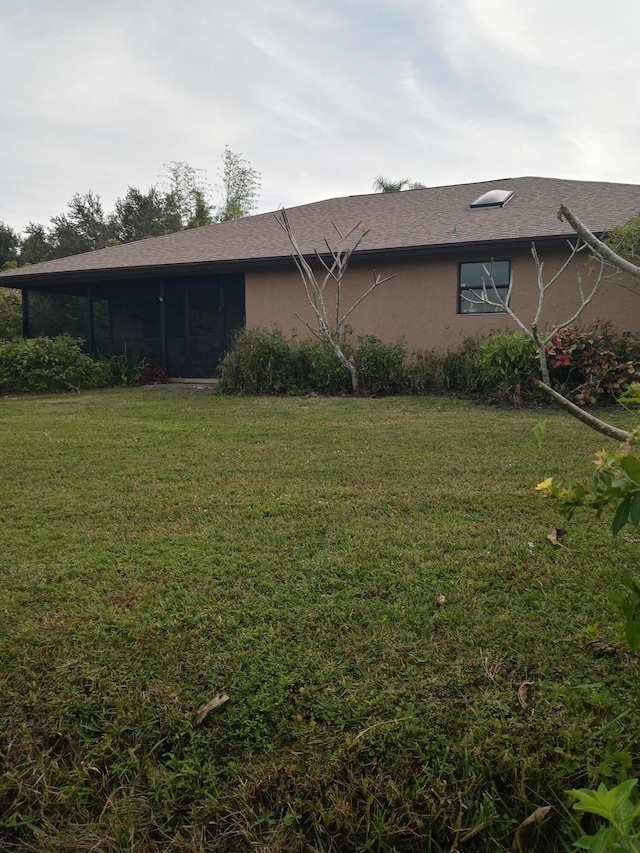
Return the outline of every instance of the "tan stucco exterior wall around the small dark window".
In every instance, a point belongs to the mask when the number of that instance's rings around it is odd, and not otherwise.
[[[547,252],[542,256],[544,277],[557,272],[567,254]],[[475,337],[494,329],[515,328],[506,315],[458,314],[458,263],[488,261],[486,255],[459,254],[455,259],[396,261],[376,266],[383,277],[395,278],[379,287],[358,306],[350,317],[356,334],[377,335],[392,343],[404,338],[412,349],[446,349],[464,337]],[[536,310],[538,287],[531,253],[519,251],[496,255],[510,260],[513,274],[511,305],[529,323]],[[248,327],[278,328],[286,335],[308,334],[296,314],[312,322],[299,273],[291,267],[246,275],[246,323]],[[580,304],[577,271],[584,289],[593,281],[595,270],[580,258],[574,261],[557,283],[547,291],[541,328],[570,317]],[[352,263],[345,278],[343,305],[353,304],[373,281],[372,266]],[[631,287],[633,293],[621,285]],[[327,286],[329,287],[329,285]],[[637,295],[636,295],[637,294]],[[612,322],[620,331],[640,332],[640,286],[624,276],[614,276],[602,285],[593,303],[582,316],[586,325],[594,319]]]

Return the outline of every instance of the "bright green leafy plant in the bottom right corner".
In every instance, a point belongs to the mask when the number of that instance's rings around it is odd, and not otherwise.
[[[579,788],[569,791],[576,798],[573,808],[598,815],[610,826],[600,827],[595,835],[585,835],[575,846],[591,853],[637,853],[640,849],[640,803],[634,797],[637,779],[627,779],[609,790],[601,783],[597,790]]]

